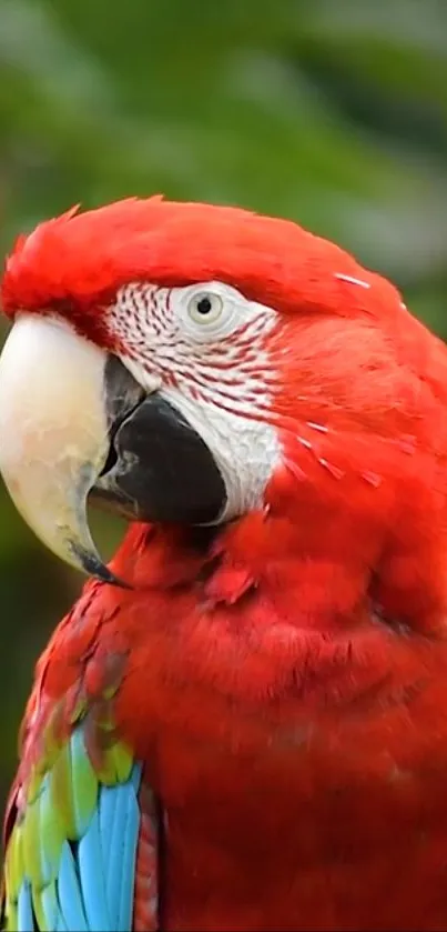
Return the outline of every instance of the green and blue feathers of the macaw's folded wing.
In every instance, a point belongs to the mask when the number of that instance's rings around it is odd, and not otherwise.
[[[6,854],[7,932],[130,932],[142,824],[141,765],[80,722],[33,774]],[[155,829],[156,833],[156,829]]]

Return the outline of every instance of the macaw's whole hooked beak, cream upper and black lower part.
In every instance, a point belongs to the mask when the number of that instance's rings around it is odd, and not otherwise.
[[[0,472],[53,553],[114,583],[90,534],[90,492],[139,521],[203,523],[225,503],[210,451],[180,412],[51,317],[19,315],[0,357]]]

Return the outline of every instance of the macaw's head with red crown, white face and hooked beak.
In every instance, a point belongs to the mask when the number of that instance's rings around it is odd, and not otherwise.
[[[126,200],[20,238],[1,303],[0,469],[70,563],[112,580],[91,494],[144,522],[255,514],[277,548],[322,572],[349,553],[385,587],[392,565],[400,589],[437,571],[446,353],[343,250],[240,209]]]

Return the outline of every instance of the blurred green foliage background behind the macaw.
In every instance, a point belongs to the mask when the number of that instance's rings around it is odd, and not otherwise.
[[[447,337],[446,0],[0,0],[2,255],[73,203],[154,191],[294,218]],[[121,529],[94,528],[110,553]],[[2,489],[0,585],[1,806],[81,587]]]

